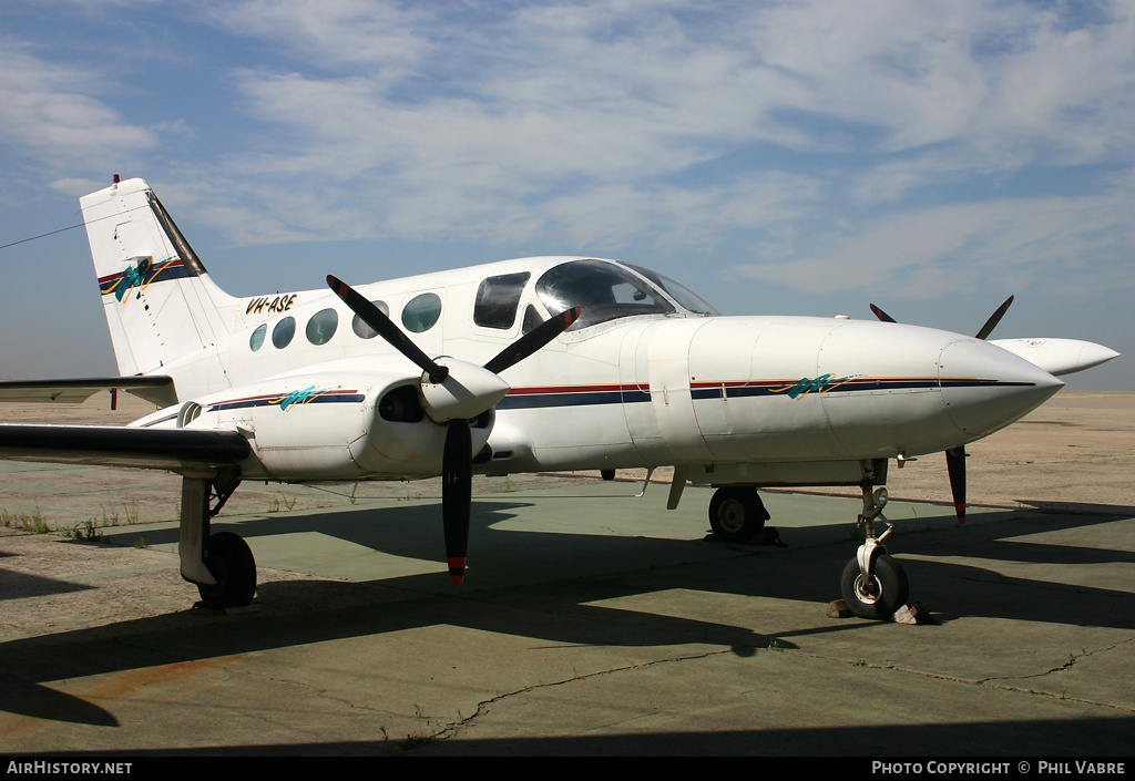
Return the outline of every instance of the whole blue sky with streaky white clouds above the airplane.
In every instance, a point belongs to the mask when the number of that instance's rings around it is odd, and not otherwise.
[[[1135,0],[5,0],[0,244],[153,185],[235,295],[619,258],[729,314],[1125,353]],[[0,377],[114,373],[82,229],[0,250]]]

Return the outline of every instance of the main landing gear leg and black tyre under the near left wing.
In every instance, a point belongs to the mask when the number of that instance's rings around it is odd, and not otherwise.
[[[213,610],[243,607],[257,593],[257,562],[249,544],[230,531],[209,530],[239,484],[229,475],[182,478],[182,577],[196,583],[201,604]]]

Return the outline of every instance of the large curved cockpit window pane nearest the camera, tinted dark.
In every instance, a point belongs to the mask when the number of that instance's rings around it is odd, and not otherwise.
[[[582,309],[577,328],[636,314],[673,314],[657,288],[627,269],[602,260],[573,260],[545,271],[536,293],[553,314]]]

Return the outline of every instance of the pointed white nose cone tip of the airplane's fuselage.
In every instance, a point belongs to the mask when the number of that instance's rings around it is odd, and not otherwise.
[[[950,420],[974,439],[1023,418],[1063,387],[1043,369],[981,339],[948,345],[939,380]]]

